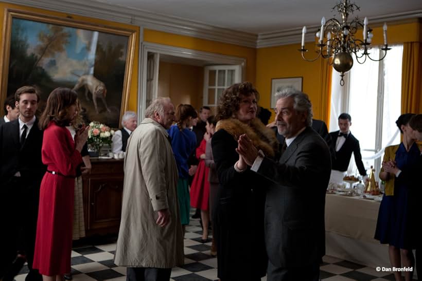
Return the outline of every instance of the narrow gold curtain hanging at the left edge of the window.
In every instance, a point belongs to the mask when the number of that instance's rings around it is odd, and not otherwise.
[[[331,73],[332,66],[329,65],[331,59],[321,60],[321,120],[323,120],[327,127],[330,124],[330,101],[331,101]]]

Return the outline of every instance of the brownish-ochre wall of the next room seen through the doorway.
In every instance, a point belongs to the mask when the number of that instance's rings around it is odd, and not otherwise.
[[[199,109],[203,100],[204,68],[160,62],[159,97],[170,97],[174,106],[191,104]]]

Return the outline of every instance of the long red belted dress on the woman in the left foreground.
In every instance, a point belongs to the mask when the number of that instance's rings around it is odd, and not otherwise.
[[[47,171],[41,182],[33,268],[42,275],[71,271],[73,203],[76,167],[81,154],[66,127],[54,121],[44,130],[42,161]]]

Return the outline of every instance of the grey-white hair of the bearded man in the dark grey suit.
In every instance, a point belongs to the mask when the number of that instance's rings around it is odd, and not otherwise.
[[[275,92],[275,101],[289,97],[293,98],[294,100],[293,108],[296,112],[306,112],[308,114],[306,118],[306,125],[311,126],[313,117],[312,103],[309,100],[308,95],[302,91],[296,90],[292,86],[277,88]]]

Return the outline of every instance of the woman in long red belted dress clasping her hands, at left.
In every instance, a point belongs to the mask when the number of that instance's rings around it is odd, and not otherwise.
[[[71,269],[73,203],[76,167],[89,127],[78,130],[75,140],[66,128],[78,114],[77,93],[54,89],[40,118],[44,129],[42,161],[47,165],[40,188],[40,207],[33,268],[44,281],[63,280]]]

